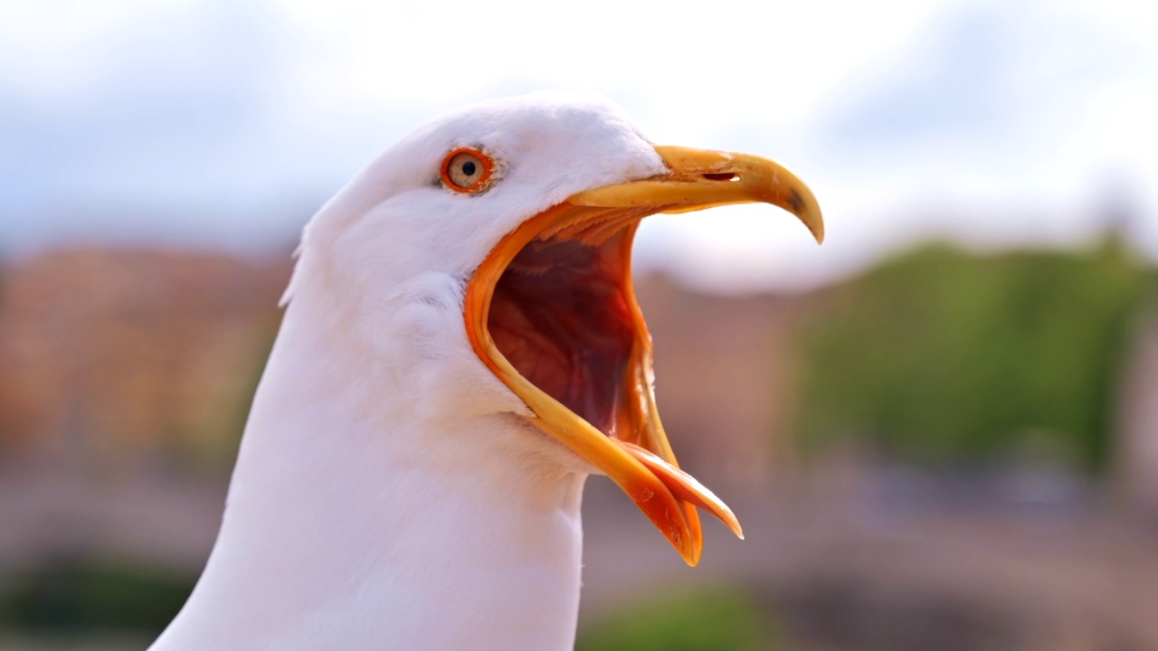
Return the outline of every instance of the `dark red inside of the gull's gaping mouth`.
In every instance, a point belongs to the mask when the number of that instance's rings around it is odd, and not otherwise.
[[[532,241],[494,286],[486,323],[523,378],[609,437],[635,341],[624,236]]]

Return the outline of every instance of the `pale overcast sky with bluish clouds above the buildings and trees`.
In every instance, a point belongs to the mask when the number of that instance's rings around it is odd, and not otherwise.
[[[447,109],[599,90],[657,142],[797,171],[828,242],[769,209],[659,217],[642,264],[808,286],[915,241],[1068,246],[1108,213],[1158,255],[1158,21],[1145,3],[0,5],[0,251],[284,251]]]

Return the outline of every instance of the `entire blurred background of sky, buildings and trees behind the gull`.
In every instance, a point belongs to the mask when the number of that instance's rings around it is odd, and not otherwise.
[[[433,115],[601,92],[799,174],[648,220],[687,569],[603,478],[579,649],[1158,650],[1158,22],[1133,1],[0,3],[0,648],[144,649],[309,215]]]

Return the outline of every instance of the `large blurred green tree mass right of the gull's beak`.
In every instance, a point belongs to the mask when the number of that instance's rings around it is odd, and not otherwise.
[[[1148,281],[1114,239],[997,256],[935,244],[887,261],[802,331],[804,440],[862,438],[917,462],[1032,449],[1099,469]]]

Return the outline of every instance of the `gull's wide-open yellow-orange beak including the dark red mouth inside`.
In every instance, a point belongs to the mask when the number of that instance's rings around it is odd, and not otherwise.
[[[779,164],[749,154],[655,147],[668,173],[587,190],[532,217],[486,256],[467,286],[478,357],[533,422],[609,476],[689,565],[698,509],[743,537],[732,511],[679,468],[655,409],[652,342],[631,284],[639,221],[659,212],[768,203],[818,242],[820,207]]]

